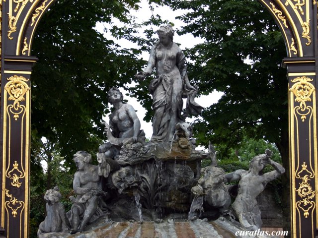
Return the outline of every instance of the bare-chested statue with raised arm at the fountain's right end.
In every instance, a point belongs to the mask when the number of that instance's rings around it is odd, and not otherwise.
[[[249,170],[237,170],[227,174],[229,182],[239,180],[238,196],[232,204],[232,211],[244,230],[256,231],[262,226],[261,214],[256,197],[265,189],[266,184],[285,173],[285,169],[270,157],[272,152],[267,149],[265,154],[255,156]],[[260,174],[265,165],[274,167],[274,171]]]

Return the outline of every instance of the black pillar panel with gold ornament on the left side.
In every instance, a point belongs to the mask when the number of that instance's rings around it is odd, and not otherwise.
[[[18,73],[18,72],[16,72]],[[1,226],[10,237],[28,236],[30,86],[24,75],[4,70]],[[18,149],[17,149],[18,148]],[[5,221],[6,224],[5,224]],[[20,229],[13,229],[19,224]]]

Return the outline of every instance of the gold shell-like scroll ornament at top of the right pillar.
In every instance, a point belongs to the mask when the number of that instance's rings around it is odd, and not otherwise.
[[[296,96],[295,102],[300,103],[300,106],[295,107],[295,111],[298,115],[301,116],[301,119],[304,122],[307,118],[307,115],[313,111],[312,107],[306,106],[306,102],[312,101],[311,95],[315,91],[314,85],[310,83],[311,81],[313,81],[313,79],[302,76],[297,77],[291,81],[293,83],[296,83],[293,85],[290,91],[293,92]]]

